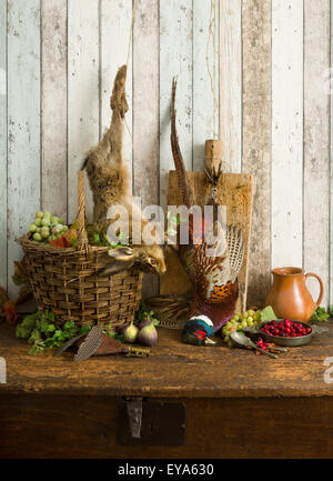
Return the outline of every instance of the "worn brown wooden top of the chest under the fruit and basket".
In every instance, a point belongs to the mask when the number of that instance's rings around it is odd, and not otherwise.
[[[27,341],[1,325],[0,355],[7,361],[6,393],[144,395],[163,398],[332,397],[324,382],[324,359],[333,352],[330,331],[311,343],[290,348],[279,359],[230,349],[216,337],[213,347],[180,342],[181,332],[159,329],[159,343],[147,359],[113,355],[73,362],[73,354],[28,354]],[[333,375],[331,373],[331,379]],[[304,420],[305,421],[305,420]]]

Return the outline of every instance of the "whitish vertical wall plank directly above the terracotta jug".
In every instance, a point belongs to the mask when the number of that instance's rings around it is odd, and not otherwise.
[[[301,267],[303,0],[272,4],[272,265]]]

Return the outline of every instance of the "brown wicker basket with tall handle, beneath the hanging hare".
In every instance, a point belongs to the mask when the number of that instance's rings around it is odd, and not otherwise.
[[[134,319],[141,299],[142,272],[108,278],[97,271],[110,262],[108,248],[91,247],[84,229],[84,177],[79,173],[78,248],[58,248],[20,239],[38,308],[78,324],[121,327]]]

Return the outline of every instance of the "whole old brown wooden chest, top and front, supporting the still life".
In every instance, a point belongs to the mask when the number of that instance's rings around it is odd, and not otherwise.
[[[333,457],[332,323],[278,360],[159,332],[148,359],[74,363],[71,353],[29,355],[2,325],[0,458]],[[134,439],[128,411],[138,400]]]

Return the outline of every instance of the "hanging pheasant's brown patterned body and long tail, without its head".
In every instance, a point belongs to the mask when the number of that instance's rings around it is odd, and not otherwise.
[[[193,206],[193,197],[188,182],[186,171],[181,154],[175,128],[175,90],[176,81],[172,83],[171,102],[171,149],[176,170],[181,200],[184,206]],[[216,213],[216,184],[219,172],[205,171],[208,179],[213,183],[209,204]],[[198,243],[193,217],[189,216],[189,243],[179,245],[179,258],[192,284],[193,299],[190,307],[190,317],[206,315],[219,331],[234,314],[239,298],[238,274],[242,267],[244,244],[242,231],[235,226],[223,228],[214,216],[213,224],[206,228],[202,219],[204,240]],[[210,250],[210,252],[209,252]]]

